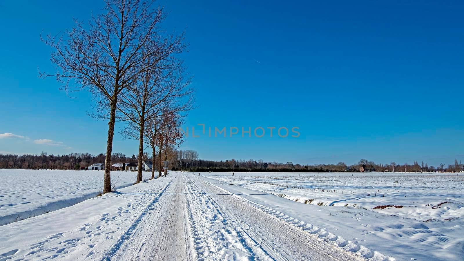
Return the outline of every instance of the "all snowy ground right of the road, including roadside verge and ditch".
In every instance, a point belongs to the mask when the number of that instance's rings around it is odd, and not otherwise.
[[[397,259],[462,260],[464,255],[462,175],[200,174],[221,183],[234,184],[236,189],[229,191],[243,193],[254,202],[274,209],[287,209],[290,216],[307,220],[328,232],[354,239]],[[267,196],[249,193],[250,190],[270,193],[284,201],[270,201]],[[294,206],[296,209],[289,210],[295,204],[301,207]]]

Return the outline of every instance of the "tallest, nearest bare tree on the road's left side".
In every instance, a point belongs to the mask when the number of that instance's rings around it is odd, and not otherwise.
[[[55,76],[68,92],[87,89],[97,104],[103,105],[104,109],[98,111],[101,117],[109,119],[103,193],[111,192],[111,152],[119,94],[140,73],[184,48],[173,40],[176,37],[166,35],[159,27],[164,18],[163,9],[154,7],[153,0],[105,0],[103,12],[92,16],[88,23],[75,19],[74,28],[63,35],[42,38],[52,48],[51,61],[57,72],[39,75]],[[142,66],[147,60],[151,64]]]

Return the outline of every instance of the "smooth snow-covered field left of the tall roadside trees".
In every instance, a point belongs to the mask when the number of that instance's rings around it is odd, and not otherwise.
[[[112,171],[111,183],[116,189],[126,187],[135,176],[136,172]],[[0,169],[0,181],[1,226],[96,196],[103,188],[103,171]]]

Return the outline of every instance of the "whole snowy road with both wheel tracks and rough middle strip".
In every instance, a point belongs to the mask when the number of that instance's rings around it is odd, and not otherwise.
[[[352,260],[290,224],[185,173],[177,175],[112,260]],[[189,225],[191,223],[192,225]],[[113,249],[114,250],[114,249]]]

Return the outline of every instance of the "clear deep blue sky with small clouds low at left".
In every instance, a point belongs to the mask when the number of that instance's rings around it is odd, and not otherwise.
[[[464,160],[462,1],[160,1],[186,30],[196,124],[298,126],[300,137],[189,137],[204,159],[429,165]],[[44,33],[102,1],[0,1],[0,153],[101,153],[107,124],[53,78]],[[116,124],[120,129],[122,124]],[[198,131],[195,130],[196,132]],[[8,136],[8,137],[7,137]],[[113,151],[136,153],[116,134]]]

